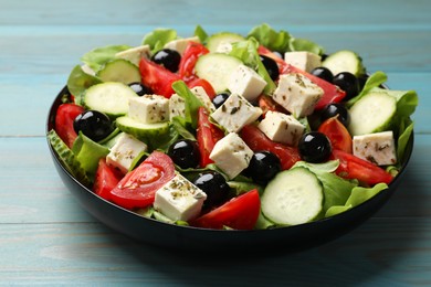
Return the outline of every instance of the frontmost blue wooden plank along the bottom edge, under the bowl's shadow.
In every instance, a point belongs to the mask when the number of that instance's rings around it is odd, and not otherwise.
[[[253,251],[242,256],[186,255],[138,244],[94,223],[8,224],[0,228],[0,244],[3,285],[431,284],[430,219],[372,219],[320,247],[266,256]]]

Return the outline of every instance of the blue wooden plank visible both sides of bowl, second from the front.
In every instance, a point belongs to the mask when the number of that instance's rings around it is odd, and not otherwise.
[[[431,215],[430,142],[431,135],[416,137],[404,179],[376,216]],[[0,138],[0,224],[94,222],[63,185],[44,138]]]

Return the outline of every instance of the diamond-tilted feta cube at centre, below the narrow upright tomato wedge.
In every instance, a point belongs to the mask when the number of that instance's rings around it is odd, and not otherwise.
[[[253,150],[235,132],[230,132],[220,139],[210,153],[210,159],[230,179],[246,169],[252,157]]]

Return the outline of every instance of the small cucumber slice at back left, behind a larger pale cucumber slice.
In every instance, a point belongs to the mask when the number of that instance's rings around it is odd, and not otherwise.
[[[107,62],[103,68],[97,72],[96,76],[103,82],[119,82],[126,85],[140,82],[139,68],[124,59],[116,59]]]

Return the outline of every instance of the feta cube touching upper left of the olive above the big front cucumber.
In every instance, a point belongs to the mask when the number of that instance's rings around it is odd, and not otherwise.
[[[293,116],[269,110],[259,124],[259,129],[270,139],[288,146],[297,146],[304,126]]]

